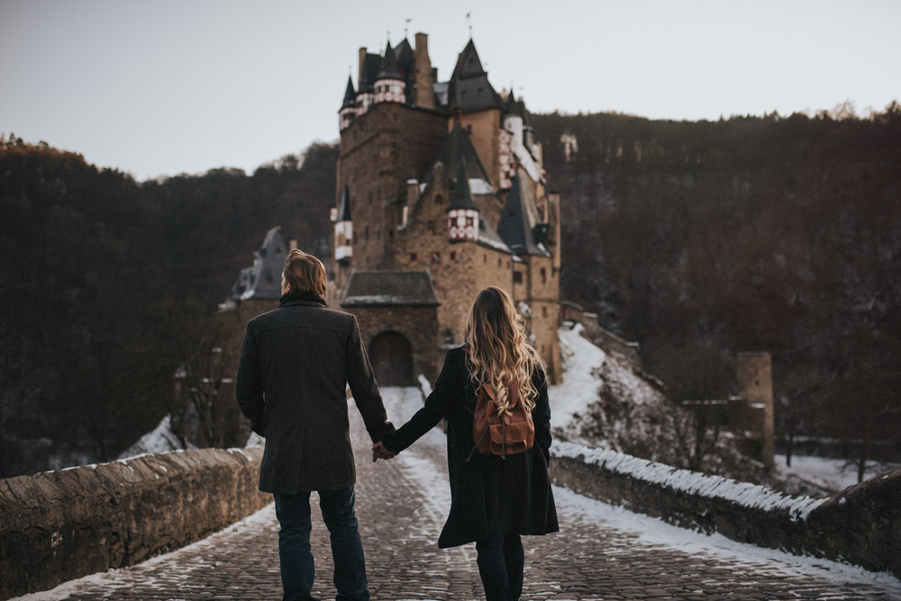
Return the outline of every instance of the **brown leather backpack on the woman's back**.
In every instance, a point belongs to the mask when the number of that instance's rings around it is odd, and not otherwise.
[[[535,441],[532,411],[525,407],[516,382],[510,383],[507,394],[511,415],[497,415],[496,390],[488,384],[482,384],[479,388],[476,409],[472,413],[472,439],[476,441],[476,446],[469,452],[467,462],[476,449],[483,455],[505,457],[532,448]]]

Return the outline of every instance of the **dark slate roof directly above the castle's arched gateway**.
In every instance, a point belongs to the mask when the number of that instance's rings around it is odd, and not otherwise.
[[[437,307],[429,272],[354,272],[341,307]]]

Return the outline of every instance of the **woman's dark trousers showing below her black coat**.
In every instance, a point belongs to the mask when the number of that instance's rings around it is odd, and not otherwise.
[[[486,601],[516,601],[523,594],[523,542],[519,534],[476,542],[478,575]]]

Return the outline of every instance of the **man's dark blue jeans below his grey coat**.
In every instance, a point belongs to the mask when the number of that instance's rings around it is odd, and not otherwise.
[[[315,601],[314,561],[310,552],[310,493],[275,493],[278,532],[278,560],[281,564],[284,601]],[[363,545],[359,542],[357,517],[353,512],[353,487],[320,490],[319,508],[332,540],[335,563],[334,584],[337,601],[369,601]]]

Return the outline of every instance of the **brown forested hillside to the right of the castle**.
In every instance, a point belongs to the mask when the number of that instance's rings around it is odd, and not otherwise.
[[[898,443],[901,106],[532,122],[561,295],[640,342],[673,397],[723,398],[728,354],[769,351],[779,433]]]

